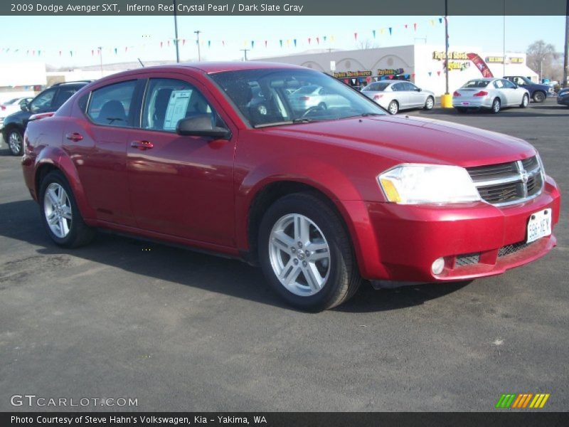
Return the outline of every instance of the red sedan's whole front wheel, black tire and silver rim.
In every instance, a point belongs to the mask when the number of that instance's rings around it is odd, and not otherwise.
[[[349,234],[334,209],[309,193],[290,194],[260,224],[259,260],[270,285],[302,310],[336,307],[361,277]]]

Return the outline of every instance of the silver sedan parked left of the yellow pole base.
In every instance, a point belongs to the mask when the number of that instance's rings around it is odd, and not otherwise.
[[[361,90],[361,93],[376,101],[391,114],[409,108],[430,110],[435,105],[435,93],[401,80],[370,83]]]

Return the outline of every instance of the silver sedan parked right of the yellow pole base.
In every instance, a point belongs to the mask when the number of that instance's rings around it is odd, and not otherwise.
[[[503,107],[526,108],[528,104],[528,90],[505,78],[468,80],[452,94],[452,106],[458,112],[488,109],[496,113]]]

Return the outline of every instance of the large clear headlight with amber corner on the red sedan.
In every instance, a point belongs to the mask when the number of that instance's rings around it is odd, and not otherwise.
[[[467,170],[437,164],[400,164],[377,177],[388,201],[398,204],[442,204],[479,201]]]

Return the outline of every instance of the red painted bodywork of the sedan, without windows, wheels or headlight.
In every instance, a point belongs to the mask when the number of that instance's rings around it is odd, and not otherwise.
[[[279,68],[296,68],[278,65]],[[265,63],[206,63],[145,68],[103,78],[70,98],[53,117],[31,122],[23,174],[37,199],[36,174],[51,165],[68,178],[91,226],[160,238],[238,256],[249,241],[248,220],[267,185],[294,181],[327,196],[344,218],[361,274],[368,279],[447,281],[503,273],[555,246],[541,238],[514,255],[500,248],[524,241],[529,216],[549,208],[558,223],[560,193],[548,178],[540,196],[497,207],[486,202],[399,205],[385,201],[376,176],[401,163],[475,167],[536,155],[521,139],[407,116],[251,128],[208,73],[275,68]],[[218,111],[228,140],[92,124],[77,103],[85,93],[133,78],[177,78],[195,85]],[[73,142],[67,135],[80,133]],[[154,148],[131,147],[151,141]],[[472,267],[457,255],[480,253]],[[433,275],[433,260],[445,270]]]

